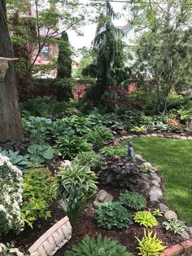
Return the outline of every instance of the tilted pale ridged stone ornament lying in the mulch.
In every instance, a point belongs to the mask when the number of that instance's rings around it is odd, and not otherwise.
[[[30,254],[42,253],[48,256],[54,255],[71,237],[72,226],[66,216],[59,220],[53,227],[50,227],[50,229],[28,249],[28,252]]]

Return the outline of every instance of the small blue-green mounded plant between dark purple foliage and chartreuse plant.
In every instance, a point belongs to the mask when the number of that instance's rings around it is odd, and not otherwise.
[[[120,193],[120,204],[124,207],[130,207],[135,210],[142,210],[146,207],[146,198],[137,192],[125,191]]]

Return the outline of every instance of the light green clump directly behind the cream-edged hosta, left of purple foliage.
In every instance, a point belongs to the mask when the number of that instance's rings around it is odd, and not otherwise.
[[[80,152],[74,158],[74,162],[79,166],[89,166],[90,168],[94,168],[99,165],[100,159],[98,154],[94,151]]]

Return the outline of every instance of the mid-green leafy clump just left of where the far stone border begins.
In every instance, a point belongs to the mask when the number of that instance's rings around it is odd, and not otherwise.
[[[94,146],[101,147],[103,146],[104,141],[110,141],[114,139],[110,130],[107,130],[106,127],[94,126],[94,130],[90,130],[85,138],[89,143],[92,143]]]

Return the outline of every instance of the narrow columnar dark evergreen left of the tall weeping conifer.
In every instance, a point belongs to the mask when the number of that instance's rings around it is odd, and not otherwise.
[[[57,99],[62,101],[72,98],[72,49],[65,31],[59,42],[57,78],[60,78],[57,79]]]

